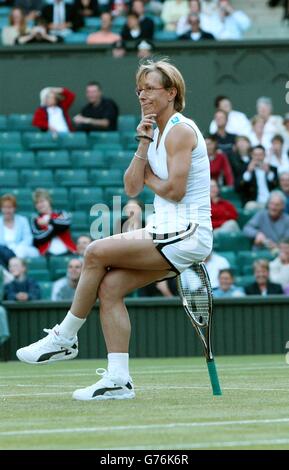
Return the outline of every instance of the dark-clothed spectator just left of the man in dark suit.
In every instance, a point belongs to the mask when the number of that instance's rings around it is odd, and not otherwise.
[[[235,153],[229,156],[229,162],[233,171],[235,189],[243,173],[251,160],[251,144],[248,137],[240,135],[236,137]]]

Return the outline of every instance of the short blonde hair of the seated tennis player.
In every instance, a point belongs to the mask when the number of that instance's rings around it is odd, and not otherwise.
[[[147,60],[140,64],[136,73],[136,82],[139,84],[151,72],[158,72],[161,75],[161,82],[164,88],[175,88],[177,94],[175,96],[174,108],[181,112],[185,108],[185,81],[179,70],[166,59],[154,61]]]

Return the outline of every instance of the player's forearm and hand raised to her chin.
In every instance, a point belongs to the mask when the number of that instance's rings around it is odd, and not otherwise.
[[[137,127],[137,134],[153,137],[154,118],[155,114],[144,116]],[[143,189],[149,144],[150,141],[148,139],[140,139],[137,151],[124,174],[125,192],[130,197],[137,196]]]

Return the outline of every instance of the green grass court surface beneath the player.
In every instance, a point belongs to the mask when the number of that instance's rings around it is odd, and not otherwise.
[[[79,402],[105,361],[0,364],[0,449],[289,449],[285,356],[134,359],[134,400]]]

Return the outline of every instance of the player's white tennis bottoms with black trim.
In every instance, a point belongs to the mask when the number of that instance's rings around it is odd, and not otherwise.
[[[174,277],[189,268],[193,263],[204,261],[212,251],[213,231],[209,227],[190,223],[187,229],[177,233],[154,233],[156,249],[170,264],[172,270],[167,277]]]

